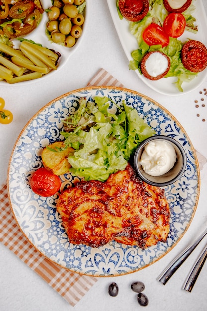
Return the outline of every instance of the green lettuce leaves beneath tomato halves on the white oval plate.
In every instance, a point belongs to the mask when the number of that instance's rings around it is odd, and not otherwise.
[[[136,37],[139,47],[131,53],[133,60],[130,61],[129,68],[132,70],[138,69],[141,73],[140,64],[144,54],[154,50],[161,51],[170,58],[171,63],[170,70],[165,77],[177,77],[175,85],[178,90],[182,92],[182,83],[184,81],[190,82],[193,78],[195,78],[195,76],[197,76],[197,73],[193,73],[184,68],[180,58],[183,43],[179,39],[170,37],[169,45],[164,48],[162,48],[161,45],[154,45],[150,47],[143,41],[142,33],[144,29],[152,22],[162,26],[165,17],[168,15],[162,0],[149,0],[149,7],[150,9],[148,14],[142,20],[138,22],[129,22],[130,32]],[[194,10],[195,6],[191,4],[188,9],[183,12],[183,15],[186,20],[185,30],[196,33],[197,27],[194,26],[196,19],[192,16]]]

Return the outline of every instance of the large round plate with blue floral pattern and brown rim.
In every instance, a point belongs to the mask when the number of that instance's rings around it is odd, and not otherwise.
[[[122,100],[146,118],[157,134],[175,138],[184,147],[187,167],[184,175],[165,187],[170,204],[170,233],[166,243],[145,250],[110,242],[99,248],[69,243],[62,221],[56,212],[57,195],[41,197],[30,189],[34,170],[42,166],[41,151],[60,137],[62,121],[74,112],[80,97],[93,101],[94,96],[107,96],[117,104]],[[62,188],[72,185],[70,174],[62,176]],[[8,169],[8,194],[18,226],[49,260],[85,275],[117,276],[138,271],[159,260],[183,236],[197,207],[199,196],[198,162],[192,144],[178,121],[162,106],[137,92],[116,87],[90,87],[64,94],[44,106],[27,123],[14,146]]]

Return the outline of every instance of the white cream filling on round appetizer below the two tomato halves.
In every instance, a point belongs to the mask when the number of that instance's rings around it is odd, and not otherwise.
[[[157,77],[168,68],[168,60],[161,53],[152,53],[145,62],[145,68],[150,76]]]

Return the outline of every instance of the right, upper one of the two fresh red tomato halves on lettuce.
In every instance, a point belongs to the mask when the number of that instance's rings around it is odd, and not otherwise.
[[[168,36],[173,38],[180,37],[186,26],[186,20],[181,13],[170,13],[164,20],[163,29]]]

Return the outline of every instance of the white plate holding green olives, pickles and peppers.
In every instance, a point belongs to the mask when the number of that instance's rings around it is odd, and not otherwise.
[[[78,40],[76,41],[75,45],[71,48],[66,48],[60,44],[56,44],[52,41],[49,40],[48,36],[46,35],[46,24],[48,22],[48,17],[47,17],[47,13],[44,12],[42,14],[42,19],[39,23],[39,25],[37,26],[36,29],[34,29],[32,32],[30,32],[28,35],[24,36],[25,39],[28,40],[33,40],[35,43],[39,43],[42,44],[43,47],[46,47],[48,49],[52,49],[56,52],[59,52],[61,54],[61,57],[58,61],[58,65],[57,65],[57,69],[56,70],[52,70],[50,71],[48,74],[43,75],[41,78],[39,79],[44,79],[44,78],[49,78],[51,75],[55,74],[57,70],[61,69],[67,62],[67,60],[69,59],[69,57],[76,51],[76,49],[79,47],[79,45],[81,44],[82,38],[85,34],[86,31],[86,26],[87,26],[87,10],[88,10],[88,2],[86,0],[86,6],[85,6],[85,11],[84,11],[84,24],[83,24],[83,31],[82,31],[82,35],[80,36],[80,38],[78,38]],[[41,0],[42,6],[45,9],[48,9],[49,7],[52,6],[52,2],[51,0]],[[20,46],[20,41],[17,39],[13,40],[13,44],[14,44],[14,48],[18,49]],[[21,85],[27,85],[30,83],[34,83],[36,80],[30,80],[30,81],[23,81],[23,82],[19,82]],[[0,85],[1,86],[18,86],[19,83],[15,83],[15,84],[9,84],[5,81],[0,81]]]

